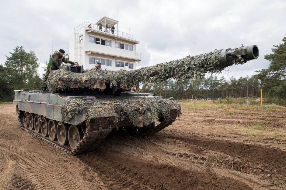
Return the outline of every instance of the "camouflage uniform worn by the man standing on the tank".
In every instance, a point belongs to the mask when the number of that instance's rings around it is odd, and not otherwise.
[[[50,66],[49,68],[47,68],[46,74],[43,78],[42,87],[47,87],[47,79],[48,79],[48,76],[50,75],[50,72],[60,69],[62,62],[71,63],[71,64],[75,65],[74,62],[66,60],[63,56],[61,56],[61,54],[58,51],[55,51],[54,54],[52,55],[53,65]]]

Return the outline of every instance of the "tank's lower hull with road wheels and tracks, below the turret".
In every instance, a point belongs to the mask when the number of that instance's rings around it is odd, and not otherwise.
[[[152,135],[169,126],[180,113],[176,101],[138,93],[136,97],[131,95],[69,96],[16,90],[13,104],[21,129],[77,155],[94,151],[113,129]],[[156,110],[167,110],[168,116],[165,112],[155,113],[150,105]]]

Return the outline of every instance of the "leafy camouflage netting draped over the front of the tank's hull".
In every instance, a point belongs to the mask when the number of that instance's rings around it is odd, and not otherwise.
[[[99,118],[103,122],[103,117],[107,117],[113,123],[125,120],[133,123],[134,126],[142,127],[162,116],[171,118],[170,111],[175,108],[177,108],[176,116],[181,115],[179,103],[171,99],[156,100],[154,97],[116,96],[96,98],[92,104],[82,99],[72,99],[72,101],[70,104],[66,102],[61,107],[62,122],[69,122],[77,113],[83,112],[88,121]]]

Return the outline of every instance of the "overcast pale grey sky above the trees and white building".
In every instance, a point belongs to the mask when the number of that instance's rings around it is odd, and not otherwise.
[[[256,44],[259,58],[227,69],[223,72],[227,80],[268,68],[264,55],[286,35],[285,0],[2,0],[0,63],[19,45],[27,52],[33,50],[43,66],[52,51],[69,52],[73,28],[95,23],[104,15],[119,21],[119,31],[129,33],[130,28],[134,40],[140,41],[136,46],[142,53],[139,67]]]

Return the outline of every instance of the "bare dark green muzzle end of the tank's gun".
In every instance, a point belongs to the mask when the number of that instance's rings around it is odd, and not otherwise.
[[[243,58],[243,62],[257,59],[259,57],[259,49],[257,45],[242,46],[240,48],[228,50],[227,52],[223,49],[220,55],[220,62],[223,65],[230,66],[235,63],[233,60],[239,58],[239,56]]]

